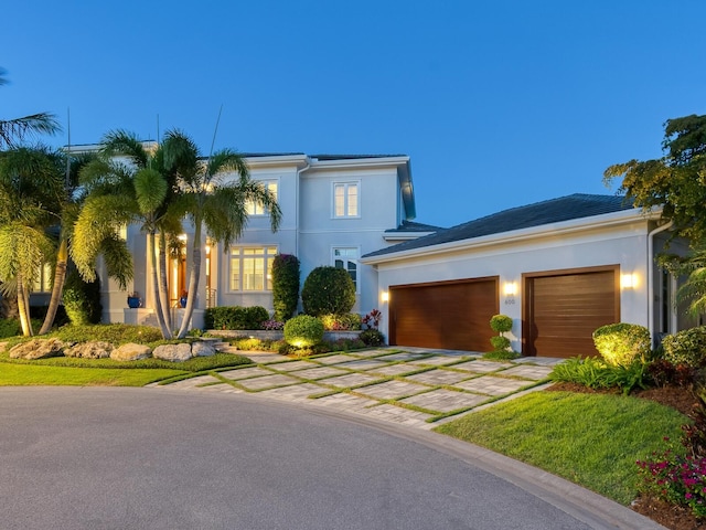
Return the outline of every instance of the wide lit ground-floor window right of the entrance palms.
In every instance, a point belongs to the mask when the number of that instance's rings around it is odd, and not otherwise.
[[[231,248],[231,290],[272,290],[275,246]]]

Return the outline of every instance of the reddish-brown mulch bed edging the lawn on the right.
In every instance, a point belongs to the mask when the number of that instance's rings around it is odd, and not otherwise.
[[[582,384],[556,383],[548,391],[582,392],[596,394],[616,394],[616,390],[592,390]],[[635,390],[630,395],[644,400],[656,401],[682,414],[689,414],[696,403],[692,391],[685,386],[664,386],[659,389]],[[649,517],[655,522],[671,530],[703,530],[706,529],[706,520],[694,517],[688,508],[671,505],[653,496],[640,495],[630,507],[638,513]]]

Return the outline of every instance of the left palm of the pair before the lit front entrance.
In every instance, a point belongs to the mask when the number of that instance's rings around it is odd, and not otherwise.
[[[164,171],[161,150],[150,152],[131,132],[110,131],[101,144],[100,158],[82,171],[87,199],[75,224],[72,257],[82,276],[90,279],[95,277],[98,254],[105,257],[106,253],[117,253],[122,267],[117,279],[125,289],[132,278],[132,259],[118,230],[121,225],[141,223],[150,247],[154,312],[162,336],[171,338],[165,244],[162,241],[159,245],[159,267],[152,250],[157,247],[158,234],[164,240],[169,233],[181,232],[180,220],[170,215],[168,208],[174,197],[173,178]]]

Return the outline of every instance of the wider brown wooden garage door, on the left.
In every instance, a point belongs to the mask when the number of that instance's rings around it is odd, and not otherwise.
[[[449,350],[491,350],[498,278],[393,286],[389,343]]]

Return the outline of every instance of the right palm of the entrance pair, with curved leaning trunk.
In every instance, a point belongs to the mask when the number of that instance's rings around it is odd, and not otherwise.
[[[196,145],[180,130],[164,135],[161,146],[164,166],[175,171],[181,197],[175,204],[191,219],[194,227],[192,268],[189,275],[189,293],[184,318],[178,337],[186,336],[194,309],[194,296],[201,279],[201,248],[203,227],[214,242],[223,242],[227,248],[247,225],[246,203],[261,203],[270,212],[272,232],[279,227],[281,210],[275,195],[261,183],[252,181],[245,159],[231,149],[213,152],[203,159]],[[235,172],[235,180],[226,177]]]

